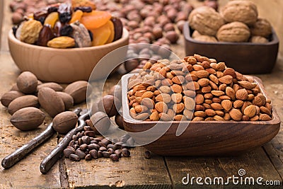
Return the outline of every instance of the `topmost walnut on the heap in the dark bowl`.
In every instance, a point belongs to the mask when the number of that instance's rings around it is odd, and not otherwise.
[[[253,25],[258,19],[258,9],[251,1],[229,1],[221,10],[221,15],[228,23],[238,21]]]

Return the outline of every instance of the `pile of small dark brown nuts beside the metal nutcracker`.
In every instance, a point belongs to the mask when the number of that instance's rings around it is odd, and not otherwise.
[[[86,121],[88,122],[89,120]],[[122,156],[130,156],[129,145],[134,142],[132,137],[126,134],[120,139],[111,139],[111,141],[103,137],[96,137],[96,132],[86,125],[82,132],[73,135],[69,146],[64,149],[64,157],[73,161],[81,159],[90,161],[101,157],[119,161]]]

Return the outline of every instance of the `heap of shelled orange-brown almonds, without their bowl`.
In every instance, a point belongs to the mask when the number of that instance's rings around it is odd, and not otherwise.
[[[257,83],[200,55],[146,62],[129,79],[129,114],[137,120],[272,120]]]

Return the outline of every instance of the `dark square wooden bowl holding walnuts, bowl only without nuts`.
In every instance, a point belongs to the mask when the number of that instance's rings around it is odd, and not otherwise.
[[[189,23],[185,23],[183,34],[185,38],[186,55],[199,54],[212,57],[218,62],[225,62],[242,74],[270,73],[275,66],[279,48],[279,40],[272,29],[270,42],[260,44],[253,42],[202,42],[194,40]]]

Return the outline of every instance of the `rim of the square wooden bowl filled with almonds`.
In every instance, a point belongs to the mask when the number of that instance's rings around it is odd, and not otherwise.
[[[134,74],[137,73],[133,73],[133,74],[125,74],[124,76],[122,76],[122,113],[123,113],[123,120],[124,122],[127,122],[129,124],[134,124],[134,125],[156,125],[157,123],[168,123],[168,121],[141,121],[141,120],[135,120],[134,118],[131,117],[131,115],[129,115],[129,101],[127,99],[127,85],[128,85],[128,81],[129,81],[129,77],[133,76]],[[248,76],[248,75],[245,75]],[[255,83],[258,84],[258,86],[260,87],[260,91],[263,93],[263,95],[265,97],[267,96],[267,93],[265,91],[265,88],[262,84],[262,81],[260,78],[258,78],[257,76],[248,76],[250,78],[253,78]],[[281,120],[279,118],[279,115],[277,114],[277,111],[275,110],[275,107],[272,106],[272,120],[269,121],[234,121],[234,120],[229,120],[229,121],[194,121],[192,122],[191,120],[185,120],[185,121],[181,121],[182,123],[193,123],[193,124],[201,124],[201,125],[214,125],[214,124],[229,124],[229,123],[233,123],[233,124],[250,124],[250,125],[277,125],[280,124]],[[172,125],[175,124],[180,124],[180,121],[171,121]]]

